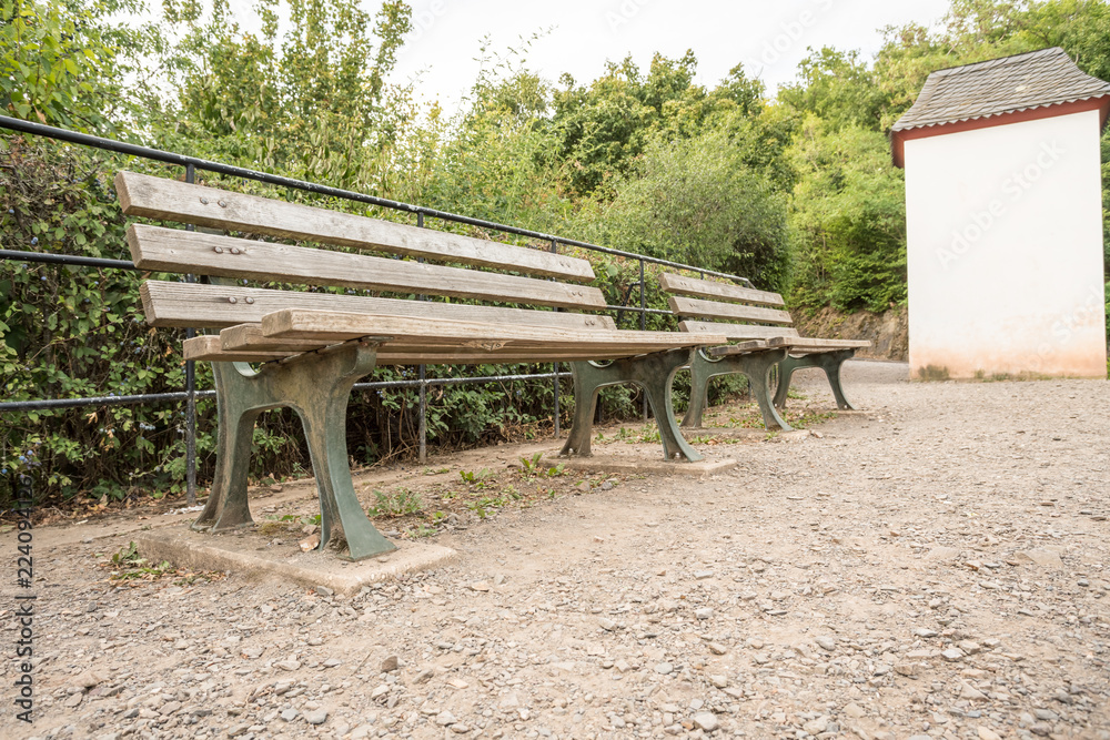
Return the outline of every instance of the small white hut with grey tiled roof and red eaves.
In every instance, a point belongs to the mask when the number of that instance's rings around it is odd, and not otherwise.
[[[926,80],[891,130],[912,377],[1106,377],[1108,112],[1110,84],[1059,48]]]

